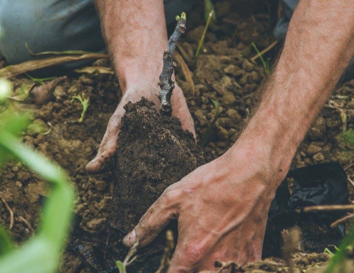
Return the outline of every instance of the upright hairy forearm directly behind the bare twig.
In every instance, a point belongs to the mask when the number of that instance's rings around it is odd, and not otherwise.
[[[95,0],[123,92],[159,81],[167,44],[162,0]],[[138,86],[137,86],[138,85]]]

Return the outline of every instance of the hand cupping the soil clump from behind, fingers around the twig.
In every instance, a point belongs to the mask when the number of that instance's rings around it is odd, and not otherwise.
[[[90,174],[98,174],[109,169],[113,155],[116,152],[118,134],[120,131],[120,120],[124,115],[125,110],[123,106],[129,101],[136,102],[142,96],[146,97],[155,103],[156,107],[160,106],[158,99],[159,88],[131,88],[125,91],[122,96],[118,107],[112,115],[107,125],[106,133],[103,136],[102,142],[97,151],[97,155],[86,166],[86,171]],[[194,122],[188,110],[182,90],[176,85],[172,97],[172,115],[176,116],[182,123],[182,128],[189,130],[195,136]]]

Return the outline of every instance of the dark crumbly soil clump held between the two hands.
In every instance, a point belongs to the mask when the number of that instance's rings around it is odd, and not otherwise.
[[[127,249],[122,239],[163,191],[213,159],[176,117],[161,116],[146,98],[129,102],[124,109],[105,255],[109,267],[124,259]],[[159,237],[141,250],[140,261],[163,252],[165,233]]]

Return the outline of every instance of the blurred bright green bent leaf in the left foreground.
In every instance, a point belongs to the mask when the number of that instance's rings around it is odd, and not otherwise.
[[[0,95],[0,98],[3,96]],[[0,271],[54,273],[58,270],[60,254],[69,230],[74,190],[58,166],[17,139],[17,135],[27,128],[28,115],[8,113],[3,121],[0,125],[0,166],[12,158],[21,160],[50,182],[51,194],[44,206],[38,234],[29,242],[15,248],[5,230],[0,227]]]

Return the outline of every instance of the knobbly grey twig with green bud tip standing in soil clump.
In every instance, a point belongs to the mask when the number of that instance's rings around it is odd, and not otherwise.
[[[163,68],[160,74],[160,81],[158,83],[161,88],[159,92],[159,99],[161,102],[160,114],[161,116],[168,117],[172,114],[171,95],[173,89],[175,88],[175,83],[171,79],[174,72],[174,67],[176,66],[176,62],[173,61],[173,54],[177,47],[179,37],[186,31],[186,14],[182,12],[180,17],[176,17],[176,20],[176,29],[171,35],[167,43],[167,48],[164,51]]]

